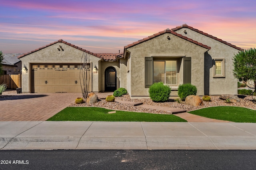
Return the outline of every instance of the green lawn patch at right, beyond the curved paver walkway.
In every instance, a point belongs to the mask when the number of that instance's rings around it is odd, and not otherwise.
[[[188,113],[212,119],[227,120],[233,122],[256,123],[256,110],[247,109],[244,107],[207,107],[199,110],[189,111]]]

